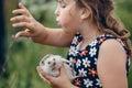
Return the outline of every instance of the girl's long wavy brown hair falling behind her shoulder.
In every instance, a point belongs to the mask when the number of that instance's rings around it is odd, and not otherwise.
[[[100,32],[113,34],[121,38],[129,50],[132,57],[131,42],[129,40],[130,32],[113,15],[114,4],[112,0],[76,0],[77,7],[92,11],[92,20],[97,24]]]

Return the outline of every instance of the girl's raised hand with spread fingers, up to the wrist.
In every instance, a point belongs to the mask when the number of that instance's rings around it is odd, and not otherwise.
[[[10,21],[13,22],[13,28],[25,28],[25,30],[18,32],[15,37],[35,37],[40,35],[44,26],[31,15],[29,10],[22,3],[19,3],[19,8],[20,9],[13,10],[12,13],[20,15],[11,18]]]

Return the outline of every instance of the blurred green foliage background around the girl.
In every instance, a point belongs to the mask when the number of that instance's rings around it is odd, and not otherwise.
[[[55,0],[21,0],[33,16],[50,28],[57,28],[54,10]],[[0,88],[51,88],[37,75],[36,66],[46,54],[67,55],[67,48],[41,45],[21,37],[12,36],[20,30],[11,26],[12,10],[19,0],[0,0]],[[116,12],[125,28],[132,33],[132,0],[116,0]],[[132,38],[131,38],[132,40]],[[13,42],[14,41],[14,42]],[[132,66],[128,78],[132,88]]]

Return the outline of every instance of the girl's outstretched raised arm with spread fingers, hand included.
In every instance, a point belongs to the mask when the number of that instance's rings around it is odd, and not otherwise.
[[[66,33],[64,30],[48,29],[38,23],[28,9],[19,3],[20,9],[13,10],[13,14],[21,14],[11,18],[13,28],[25,28],[25,31],[16,33],[15,37],[26,36],[31,37],[34,42],[54,45],[54,46],[68,46],[74,37],[73,33]]]

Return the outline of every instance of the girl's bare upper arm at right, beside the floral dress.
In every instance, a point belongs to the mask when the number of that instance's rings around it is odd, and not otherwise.
[[[102,43],[97,69],[103,88],[128,88],[125,63],[125,51],[118,41]]]

